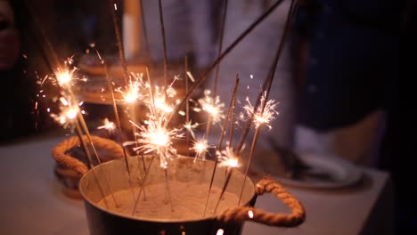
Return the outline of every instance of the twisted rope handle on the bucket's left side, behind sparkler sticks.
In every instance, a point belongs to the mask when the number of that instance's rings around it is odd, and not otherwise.
[[[84,142],[89,142],[86,135],[83,135],[82,138]],[[101,148],[104,150],[111,151],[113,153],[113,156],[115,156],[116,158],[123,157],[123,149],[116,142],[95,135],[91,136],[91,141],[94,143],[94,147],[96,149]],[[66,153],[67,150],[70,150],[74,147],[78,147],[80,144],[81,143],[79,142],[78,136],[73,136],[56,145],[51,151],[51,153],[53,159],[55,159],[58,165],[63,166],[65,168],[69,168],[79,176],[82,176],[86,174],[88,170],[86,164],[84,164],[77,158],[72,157],[70,154]]]

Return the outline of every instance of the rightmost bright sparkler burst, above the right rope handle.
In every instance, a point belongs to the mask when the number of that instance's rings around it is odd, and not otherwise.
[[[269,123],[274,120],[275,116],[274,114],[278,114],[278,112],[275,110],[278,103],[275,103],[274,100],[266,101],[266,94],[262,95],[261,97],[261,103],[258,106],[258,109],[255,109],[255,107],[252,106],[252,104],[249,101],[249,97],[246,97],[246,101],[248,102],[247,105],[243,107],[245,109],[246,114],[249,117],[253,116],[253,123],[258,128],[261,125],[268,126],[269,129],[272,129],[272,126],[269,125]],[[266,102],[266,103],[265,103]],[[262,111],[262,107],[265,105],[264,111]],[[241,116],[243,118],[244,116]]]

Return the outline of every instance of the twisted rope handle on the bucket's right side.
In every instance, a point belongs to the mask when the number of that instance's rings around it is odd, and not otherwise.
[[[282,200],[285,205],[290,207],[291,214],[273,214],[254,207],[233,207],[225,210],[223,214],[217,215],[217,220],[224,223],[254,221],[277,227],[296,227],[306,220],[306,211],[298,199],[273,179],[260,180],[255,190],[258,196],[265,192],[274,194],[277,199]]]

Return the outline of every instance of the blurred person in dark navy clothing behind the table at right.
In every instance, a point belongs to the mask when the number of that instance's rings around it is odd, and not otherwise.
[[[296,149],[377,166],[397,93],[401,1],[302,1]]]

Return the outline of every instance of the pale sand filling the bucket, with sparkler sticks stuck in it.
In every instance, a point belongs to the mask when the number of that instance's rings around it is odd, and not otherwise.
[[[170,202],[166,196],[166,184],[157,183],[147,185],[146,199],[141,196],[138,206],[135,209],[135,217],[146,219],[163,219],[163,220],[195,220],[196,218],[208,218],[213,216],[214,208],[221,189],[213,187],[208,198],[208,210],[203,217],[204,209],[208,196],[208,183],[198,182],[179,182],[170,181],[170,190],[172,194],[172,203],[174,211],[171,210]],[[137,197],[138,189],[135,189]],[[109,203],[109,210],[130,216],[133,212],[133,201],[131,190],[119,190],[114,193],[118,202],[115,205],[111,196],[106,197]],[[225,192],[224,197],[220,200],[217,212],[223,212],[229,207],[235,207],[238,203],[238,196]],[[98,203],[99,207],[106,208],[103,199]]]

